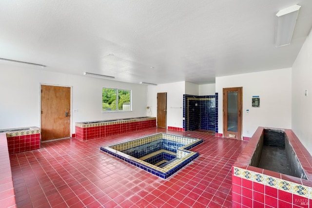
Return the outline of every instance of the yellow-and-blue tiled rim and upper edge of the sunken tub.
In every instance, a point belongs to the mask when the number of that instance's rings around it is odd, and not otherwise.
[[[143,144],[147,144],[149,142],[156,141],[158,139],[166,139],[170,141],[177,142],[179,141],[180,143],[186,143],[185,146],[180,147],[177,150],[177,158],[175,161],[172,163],[164,166],[163,168],[159,168],[155,165],[152,165],[150,163],[147,163],[141,159],[132,157],[128,154],[125,154],[121,151],[128,150],[132,147],[137,147]],[[182,141],[184,139],[184,141]],[[182,142],[181,142],[182,141]],[[192,147],[202,143],[202,139],[193,139],[189,137],[183,137],[183,136],[176,136],[172,134],[167,134],[167,133],[157,133],[157,134],[152,134],[150,136],[142,137],[136,140],[131,140],[131,141],[125,141],[120,144],[113,144],[110,145],[109,147],[101,147],[100,150],[107,152],[119,159],[122,159],[130,164],[133,164],[143,170],[146,170],[148,172],[151,172],[161,178],[167,178],[176,171],[180,170],[182,167],[187,165],[189,162],[194,160],[196,157],[198,157],[199,153],[194,152],[194,151],[189,151],[187,149],[191,149]],[[189,144],[187,144],[189,143]]]

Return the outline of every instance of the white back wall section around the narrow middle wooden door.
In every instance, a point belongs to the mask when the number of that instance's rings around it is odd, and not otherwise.
[[[167,128],[168,126],[183,128],[183,95],[185,82],[148,86],[148,116],[157,117],[157,93],[167,93]]]

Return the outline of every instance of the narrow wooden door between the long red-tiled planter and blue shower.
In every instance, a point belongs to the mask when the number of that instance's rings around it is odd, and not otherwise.
[[[167,129],[167,93],[157,93],[157,127]]]

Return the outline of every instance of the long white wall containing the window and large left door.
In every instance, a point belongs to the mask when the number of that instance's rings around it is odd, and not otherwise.
[[[0,129],[40,127],[40,83],[72,87],[72,133],[75,122],[146,115],[146,86],[0,63]],[[132,90],[132,112],[102,113],[102,87]],[[78,110],[78,113],[73,113]]]

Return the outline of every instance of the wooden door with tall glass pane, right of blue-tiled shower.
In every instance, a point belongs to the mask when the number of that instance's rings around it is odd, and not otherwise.
[[[224,137],[241,140],[242,93],[242,87],[223,88]]]

